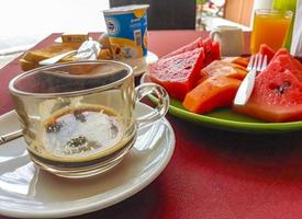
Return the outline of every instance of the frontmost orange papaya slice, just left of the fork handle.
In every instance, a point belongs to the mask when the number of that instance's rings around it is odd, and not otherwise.
[[[241,82],[238,79],[224,76],[208,78],[186,95],[182,105],[197,114],[231,106]]]

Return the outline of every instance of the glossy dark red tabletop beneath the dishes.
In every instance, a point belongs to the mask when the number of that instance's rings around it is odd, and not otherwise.
[[[149,50],[161,56],[200,35],[206,33],[150,32]],[[8,82],[19,72],[18,60],[0,70],[0,114],[12,110]],[[176,149],[164,172],[131,198],[74,218],[302,218],[301,131],[237,134],[167,118],[175,129]]]

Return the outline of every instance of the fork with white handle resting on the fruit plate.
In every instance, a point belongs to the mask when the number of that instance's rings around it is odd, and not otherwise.
[[[248,73],[243,80],[235,100],[234,104],[236,105],[245,105],[250,97],[255,84],[255,79],[258,72],[265,70],[267,67],[267,56],[261,54],[257,54],[256,56],[251,56],[247,66]]]

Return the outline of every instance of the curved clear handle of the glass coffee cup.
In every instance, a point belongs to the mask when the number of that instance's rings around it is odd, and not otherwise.
[[[169,94],[163,87],[156,83],[143,83],[135,88],[135,93],[136,103],[139,102],[146,95],[153,94],[157,97],[157,105],[154,108],[154,111],[136,119],[138,125],[155,122],[165,116],[168,112],[170,99]]]

